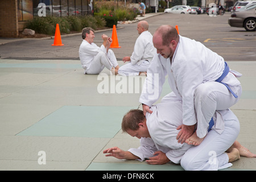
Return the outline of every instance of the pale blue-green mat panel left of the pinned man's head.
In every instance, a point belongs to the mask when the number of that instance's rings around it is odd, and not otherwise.
[[[113,138],[131,106],[63,106],[17,135]]]

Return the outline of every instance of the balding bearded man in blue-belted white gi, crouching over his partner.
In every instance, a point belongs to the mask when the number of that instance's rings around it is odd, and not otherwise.
[[[163,100],[183,103],[178,142],[199,145],[213,125],[215,111],[228,109],[240,99],[242,88],[236,77],[241,74],[229,71],[221,56],[200,42],[180,36],[172,26],[160,26],[153,43],[158,54],[148,68],[147,74],[151,77],[146,78],[139,98],[144,114],[151,113],[149,107],[160,97],[168,75],[172,92]],[[149,88],[154,89],[154,93],[149,93]],[[224,125],[217,127],[223,129]]]

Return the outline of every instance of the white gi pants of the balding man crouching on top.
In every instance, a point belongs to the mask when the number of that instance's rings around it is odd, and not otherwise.
[[[238,96],[235,98],[225,85],[216,81],[205,82],[197,86],[194,102],[197,118],[197,137],[203,138],[208,133],[210,119],[216,110],[225,110],[238,102],[242,94],[242,86],[230,86]],[[177,101],[175,93],[171,92],[163,97],[161,102]],[[218,125],[220,126],[220,125]],[[224,126],[224,124],[223,124]],[[224,128],[218,128],[219,130]]]

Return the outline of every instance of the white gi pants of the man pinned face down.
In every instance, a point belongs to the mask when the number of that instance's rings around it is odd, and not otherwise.
[[[225,151],[236,140],[240,123],[232,111],[225,114],[224,122],[225,129],[221,134],[210,130],[199,146],[193,146],[185,152],[180,162],[185,170],[217,171],[232,166]]]

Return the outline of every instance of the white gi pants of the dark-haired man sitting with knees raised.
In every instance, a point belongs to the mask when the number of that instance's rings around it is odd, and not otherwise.
[[[94,57],[90,67],[85,69],[85,74],[98,74],[105,67],[111,70],[112,68],[117,67],[117,65],[117,59],[115,58],[114,52],[111,49],[109,49],[108,55],[100,51]]]

